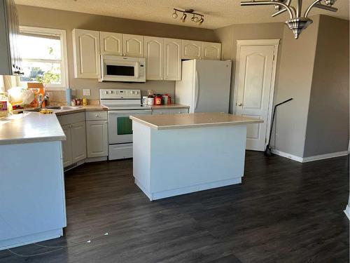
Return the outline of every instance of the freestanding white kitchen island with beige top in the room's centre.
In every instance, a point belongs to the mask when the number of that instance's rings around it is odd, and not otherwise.
[[[130,119],[135,184],[151,201],[241,183],[246,126],[262,123],[225,113]]]

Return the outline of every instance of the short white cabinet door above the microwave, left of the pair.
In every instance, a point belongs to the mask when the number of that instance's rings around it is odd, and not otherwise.
[[[99,32],[101,55],[123,55],[123,34]]]

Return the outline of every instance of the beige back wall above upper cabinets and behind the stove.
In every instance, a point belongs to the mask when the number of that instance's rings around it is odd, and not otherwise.
[[[73,28],[92,29],[106,32],[141,34],[147,36],[172,37],[176,39],[193,39],[200,41],[216,41],[213,30],[195,27],[167,25],[139,20],[111,18],[102,15],[90,15],[70,11],[59,11],[34,6],[18,6],[20,25],[32,27],[49,27],[66,29],[68,46],[69,86],[76,89],[78,97],[83,96],[83,88],[90,88],[87,98],[99,99],[99,88],[138,88],[146,93],[153,89],[159,93],[174,95],[174,81],[147,81],[146,83],[98,83],[97,79],[75,79],[73,76],[73,50],[71,31]]]

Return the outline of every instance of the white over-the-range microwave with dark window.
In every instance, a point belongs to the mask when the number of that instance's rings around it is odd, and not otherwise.
[[[146,60],[102,55],[99,81],[146,82]]]

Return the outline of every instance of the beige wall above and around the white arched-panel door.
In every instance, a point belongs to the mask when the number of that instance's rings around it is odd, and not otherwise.
[[[232,78],[231,78],[231,97],[230,112],[235,101],[233,90],[235,88],[235,61],[237,55],[237,40],[240,39],[282,39],[283,23],[262,23],[262,24],[245,24],[230,25],[214,30],[218,41],[222,43],[221,58],[223,60],[232,60]],[[283,40],[280,41],[280,45]],[[280,54],[279,49],[279,54]],[[277,61],[277,72],[279,73],[279,60]]]

